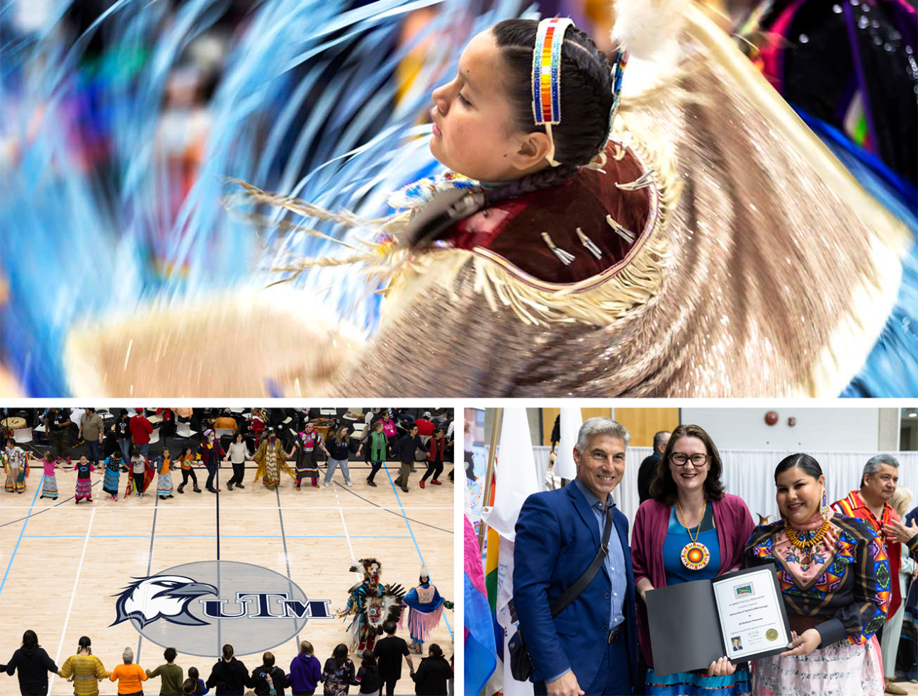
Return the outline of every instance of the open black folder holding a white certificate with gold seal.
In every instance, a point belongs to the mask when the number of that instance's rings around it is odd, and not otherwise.
[[[646,594],[647,619],[660,676],[778,655],[790,627],[774,565],[683,582]]]

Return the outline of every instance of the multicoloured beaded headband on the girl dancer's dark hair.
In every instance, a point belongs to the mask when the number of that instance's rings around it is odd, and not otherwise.
[[[561,123],[561,47],[565,31],[573,20],[550,17],[539,22],[532,51],[532,116],[536,126],[544,126],[551,150],[545,159],[553,166],[554,138],[552,126]]]

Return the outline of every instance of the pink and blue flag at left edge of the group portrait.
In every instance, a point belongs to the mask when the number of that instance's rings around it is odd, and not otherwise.
[[[497,667],[494,623],[475,527],[465,514],[465,693],[477,696]]]

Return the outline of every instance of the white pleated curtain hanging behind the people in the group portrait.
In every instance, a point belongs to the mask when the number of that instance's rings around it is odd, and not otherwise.
[[[644,458],[653,452],[652,447],[629,447],[625,453],[625,476],[613,494],[616,504],[630,521],[634,519],[640,499],[637,495],[637,471]],[[535,467],[540,484],[545,486],[551,447],[533,446]],[[775,466],[790,450],[721,450],[723,485],[728,493],[745,500],[753,520],[758,515],[778,517],[775,503]],[[867,460],[877,452],[808,452],[823,467],[825,488],[829,502],[845,498],[849,491],[859,488],[861,472]],[[918,452],[890,453],[899,460],[899,485],[915,494],[912,507],[918,505]],[[498,459],[499,461],[499,459]],[[499,466],[499,465],[498,465]]]

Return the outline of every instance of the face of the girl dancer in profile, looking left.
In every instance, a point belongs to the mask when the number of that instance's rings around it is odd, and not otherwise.
[[[525,133],[513,118],[509,75],[490,29],[477,34],[451,83],[433,91],[431,153],[453,172],[510,181],[546,166],[544,133]]]

